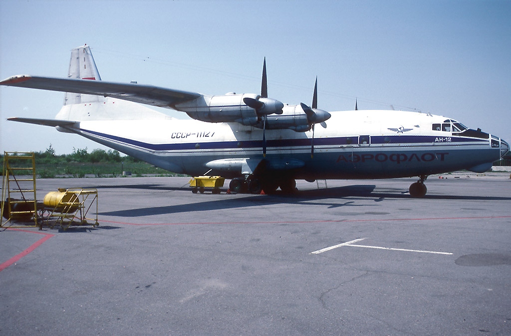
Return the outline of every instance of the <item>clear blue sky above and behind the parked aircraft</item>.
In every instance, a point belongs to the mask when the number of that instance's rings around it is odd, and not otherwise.
[[[65,77],[87,43],[103,80],[319,108],[417,109],[511,141],[510,1],[0,2],[0,77]],[[62,93],[0,88],[0,150],[103,148],[52,127]],[[185,115],[160,109],[177,118]]]

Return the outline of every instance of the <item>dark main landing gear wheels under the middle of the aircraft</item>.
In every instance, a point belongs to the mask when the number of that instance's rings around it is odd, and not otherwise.
[[[294,193],[296,181],[290,177],[264,178],[248,175],[247,177],[233,178],[229,183],[229,190],[235,193],[260,194],[261,191],[264,191],[265,194],[273,194],[279,187],[283,193]]]

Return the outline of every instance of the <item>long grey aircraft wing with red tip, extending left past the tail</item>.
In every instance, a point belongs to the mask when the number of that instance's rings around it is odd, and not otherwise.
[[[37,77],[29,75],[9,77],[1,81],[0,85],[114,97],[136,103],[167,108],[172,108],[175,104],[183,103],[202,96],[195,92],[178,91],[153,85],[115,83],[88,79]]]

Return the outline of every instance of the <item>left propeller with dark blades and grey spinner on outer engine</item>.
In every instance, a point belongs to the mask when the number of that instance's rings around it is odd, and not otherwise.
[[[263,63],[263,79],[261,81],[261,96],[256,99],[245,97],[243,102],[255,110],[258,117],[263,117],[263,156],[266,157],[266,119],[268,115],[282,115],[284,104],[272,98],[268,98],[268,79],[266,77],[266,57]]]

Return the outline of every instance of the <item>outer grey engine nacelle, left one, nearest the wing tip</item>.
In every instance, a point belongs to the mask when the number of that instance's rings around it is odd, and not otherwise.
[[[243,102],[243,98],[257,99],[255,94],[227,94],[224,96],[201,96],[195,100],[175,105],[177,110],[191,118],[205,122],[237,122],[253,126],[259,119],[255,110]]]

